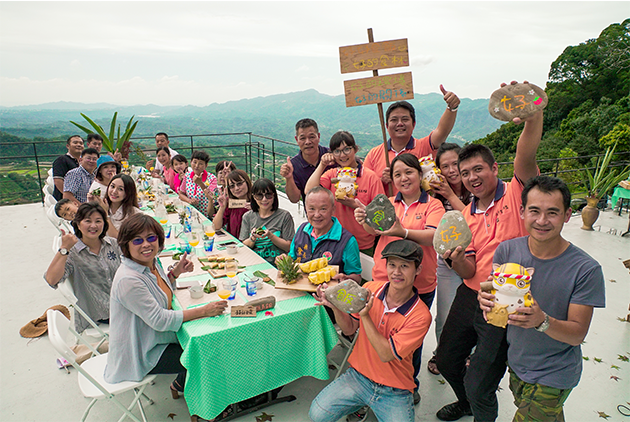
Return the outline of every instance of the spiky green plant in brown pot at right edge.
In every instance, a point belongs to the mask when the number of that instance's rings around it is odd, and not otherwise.
[[[610,167],[610,161],[616,148],[616,142],[612,147],[608,147],[604,157],[597,159],[597,164],[595,164],[595,168],[592,171],[589,169],[582,170],[584,184],[588,192],[586,206],[582,209],[582,230],[593,230],[593,223],[599,217],[597,203],[619,182],[627,179],[630,174],[630,166],[626,166],[621,171],[619,171],[619,168]]]

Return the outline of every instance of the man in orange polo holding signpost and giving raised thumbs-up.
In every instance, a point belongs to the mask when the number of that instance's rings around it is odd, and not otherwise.
[[[385,124],[389,134],[387,155],[390,163],[394,157],[404,152],[411,153],[418,158],[433,154],[433,158],[435,158],[435,151],[446,141],[455,125],[457,108],[460,102],[457,95],[445,90],[442,85],[440,85],[440,90],[444,95],[446,110],[442,114],[435,130],[424,138],[417,139],[413,137],[413,130],[416,127],[416,111],[411,104],[407,101],[396,101],[387,108]],[[372,148],[365,157],[363,165],[381,178],[388,196],[392,196],[389,194],[389,186],[392,187],[394,195],[398,193],[394,184],[391,183],[389,167],[385,163],[383,145],[377,145]]]

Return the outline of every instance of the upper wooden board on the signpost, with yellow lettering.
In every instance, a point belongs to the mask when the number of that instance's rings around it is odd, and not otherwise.
[[[409,66],[407,39],[339,47],[341,73]]]

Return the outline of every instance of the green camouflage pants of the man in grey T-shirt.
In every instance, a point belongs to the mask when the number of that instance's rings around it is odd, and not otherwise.
[[[510,369],[510,390],[518,407],[512,422],[564,422],[562,406],[571,388],[560,390],[541,384],[528,384]]]

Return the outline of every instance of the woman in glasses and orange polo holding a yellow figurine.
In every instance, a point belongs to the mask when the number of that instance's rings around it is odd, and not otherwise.
[[[322,186],[336,193],[335,182],[339,168],[326,170],[331,164],[339,167],[351,167],[357,170],[356,197],[355,199],[337,199],[334,216],[341,223],[341,226],[352,233],[357,239],[359,250],[366,255],[374,256],[374,241],[376,236],[373,232],[366,232],[354,218],[354,209],[358,206],[357,200],[364,205],[372,202],[372,199],[379,193],[385,194],[380,178],[372,170],[365,168],[357,160],[356,153],[359,150],[354,137],[345,131],[338,131],[330,138],[330,150],[322,156],[319,165],[306,182],[305,193],[308,193],[315,186]],[[336,195],[335,195],[336,197]]]

